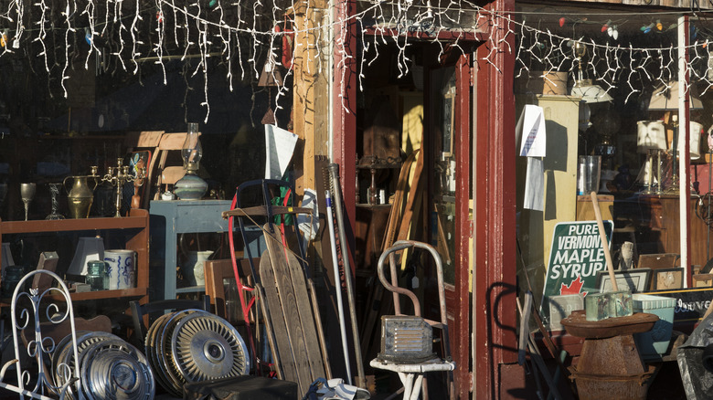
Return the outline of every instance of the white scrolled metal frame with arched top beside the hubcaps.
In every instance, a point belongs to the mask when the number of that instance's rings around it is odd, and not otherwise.
[[[50,287],[49,289],[44,289],[41,292],[37,288],[30,288],[29,292],[22,291],[22,288],[25,286],[25,282],[27,282],[27,279],[31,279],[37,274],[49,275],[52,279],[55,279],[57,280],[57,282],[59,282],[59,287]],[[74,310],[72,308],[72,302],[69,297],[69,289],[67,289],[67,286],[64,284],[62,279],[60,279],[59,276],[54,272],[50,272],[43,269],[29,272],[27,275],[25,275],[25,277],[20,279],[19,283],[17,283],[15,291],[13,292],[11,302],[11,317],[13,329],[13,344],[15,346],[15,359],[8,361],[7,363],[5,363],[5,365],[3,365],[2,369],[0,369],[0,387],[10,390],[12,392],[16,392],[20,395],[20,399],[25,399],[26,396],[29,396],[30,398],[50,400],[54,397],[50,397],[48,395],[53,394],[59,395],[59,399],[62,400],[68,393],[69,385],[74,384],[76,393],[79,394],[79,398],[84,399],[85,397],[82,395],[80,390],[81,383],[79,379],[79,363],[75,363],[74,368],[69,367],[69,365],[65,363],[59,365],[59,368],[64,371],[64,374],[66,374],[67,377],[67,379],[64,381],[65,384],[62,384],[61,386],[55,385],[51,381],[51,377],[47,376],[47,374],[45,374],[45,371],[42,368],[42,366],[45,364],[45,357],[49,357],[49,355],[54,352],[56,348],[56,343],[52,338],[42,336],[42,331],[40,329],[39,324],[40,303],[45,298],[45,296],[48,296],[49,294],[59,294],[64,298],[67,303],[67,310],[60,311],[59,306],[56,302],[49,302],[45,312],[48,321],[51,321],[54,324],[59,324],[63,321],[67,321],[67,319],[69,318],[69,323],[71,326],[72,352],[74,355],[74,360],[78,360],[79,354],[77,351],[77,332],[74,327]],[[30,300],[32,310],[28,310],[28,308],[18,306],[18,300],[22,298],[27,298],[27,300]],[[17,321],[18,312],[20,321]],[[28,327],[30,326],[30,318],[32,318],[34,321],[35,337],[34,340],[27,343],[27,355],[29,355],[30,358],[35,359],[35,361],[37,362],[38,374],[37,383],[33,388],[28,389],[26,388],[26,385],[30,384],[31,375],[28,370],[23,369],[23,365],[21,362],[22,358],[20,357],[21,346],[18,342],[18,332],[28,329]],[[15,364],[17,370],[16,385],[5,383],[5,373],[7,372],[7,369],[13,364]]]

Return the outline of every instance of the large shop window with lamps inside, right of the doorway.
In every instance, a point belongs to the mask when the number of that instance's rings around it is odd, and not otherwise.
[[[614,268],[652,268],[638,291],[694,286],[686,271],[705,270],[711,258],[706,136],[712,94],[703,26],[692,21],[686,28],[679,16],[652,17],[640,8],[622,14],[562,7],[521,6],[517,11],[514,90],[521,141],[516,212],[522,286],[527,273],[528,289],[542,295],[553,283],[547,280],[557,270],[550,265],[557,256],[560,278],[580,277],[573,285],[572,279],[557,281],[552,288],[557,294],[601,289],[597,275],[606,269],[603,255],[578,252],[580,245],[567,238],[598,232],[582,227],[596,226],[584,222],[595,220],[591,191],[603,219],[611,221],[605,226],[612,226]],[[685,63],[690,76],[687,119],[677,94],[678,47],[684,44],[679,37],[684,35],[691,44]],[[686,151],[677,155],[677,143],[686,139],[684,124],[690,130],[688,146],[683,144]],[[687,157],[688,182],[679,171]],[[687,221],[679,207],[686,185]],[[689,223],[688,231],[682,221]],[[558,231],[563,224],[573,230]],[[669,281],[656,279],[657,268],[679,269]]]

